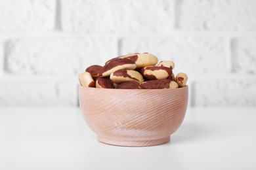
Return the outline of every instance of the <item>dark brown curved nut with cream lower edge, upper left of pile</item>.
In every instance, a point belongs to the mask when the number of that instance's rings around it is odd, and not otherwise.
[[[102,68],[100,76],[110,76],[111,73],[121,69],[136,69],[135,62],[127,58],[118,58],[108,62]]]

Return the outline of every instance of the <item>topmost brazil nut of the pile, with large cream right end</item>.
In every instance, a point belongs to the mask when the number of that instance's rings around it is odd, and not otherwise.
[[[132,61],[135,62],[135,64],[137,65],[137,69],[138,68],[142,68],[142,67],[146,67],[149,65],[156,65],[158,63],[158,58],[156,56],[154,56],[153,54],[149,54],[149,53],[134,53],[134,54],[128,54],[125,56],[119,56],[117,58],[113,58],[108,60],[106,63],[109,63],[110,61],[114,61],[118,58],[127,58],[127,59],[131,59]]]

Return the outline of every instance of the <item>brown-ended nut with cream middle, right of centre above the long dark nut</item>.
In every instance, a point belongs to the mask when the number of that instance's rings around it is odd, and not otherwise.
[[[148,66],[140,69],[140,73],[148,80],[161,80],[168,78],[173,72],[168,67]]]

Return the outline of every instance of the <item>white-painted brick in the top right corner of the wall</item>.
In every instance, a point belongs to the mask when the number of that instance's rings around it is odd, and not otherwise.
[[[178,27],[185,30],[256,31],[255,0],[177,0]]]

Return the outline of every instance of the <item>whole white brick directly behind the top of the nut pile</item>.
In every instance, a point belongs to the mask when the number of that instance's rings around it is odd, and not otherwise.
[[[165,37],[123,39],[121,54],[150,52],[158,59],[175,62],[174,73],[188,75],[226,73],[224,39],[218,37]]]

